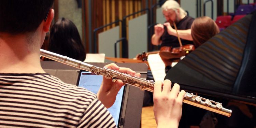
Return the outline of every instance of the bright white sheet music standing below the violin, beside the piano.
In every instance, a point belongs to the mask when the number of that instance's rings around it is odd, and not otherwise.
[[[150,54],[147,57],[152,75],[155,81],[162,81],[165,79],[165,63],[163,63],[159,54]]]

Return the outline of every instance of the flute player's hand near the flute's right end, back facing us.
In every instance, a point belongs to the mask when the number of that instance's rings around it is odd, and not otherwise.
[[[185,91],[179,93],[180,85],[174,84],[171,90],[171,81],[163,84],[158,81],[154,85],[154,115],[157,127],[178,127],[182,114],[182,102]],[[162,90],[161,90],[162,89]]]

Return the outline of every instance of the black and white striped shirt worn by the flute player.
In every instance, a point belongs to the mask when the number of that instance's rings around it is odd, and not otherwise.
[[[90,91],[47,73],[0,73],[0,127],[116,127]]]

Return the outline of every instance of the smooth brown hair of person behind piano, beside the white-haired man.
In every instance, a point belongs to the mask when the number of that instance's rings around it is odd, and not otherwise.
[[[219,27],[213,19],[207,16],[196,18],[191,25],[191,36],[195,47],[199,47],[217,33],[219,33]]]

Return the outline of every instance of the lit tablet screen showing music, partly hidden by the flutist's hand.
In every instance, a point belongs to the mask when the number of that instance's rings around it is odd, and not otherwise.
[[[77,86],[86,88],[89,91],[97,94],[102,82],[102,76],[81,70],[77,80]],[[120,113],[122,111],[122,102],[124,97],[124,86],[119,90],[115,103],[108,109],[114,117],[115,123],[119,127]]]

